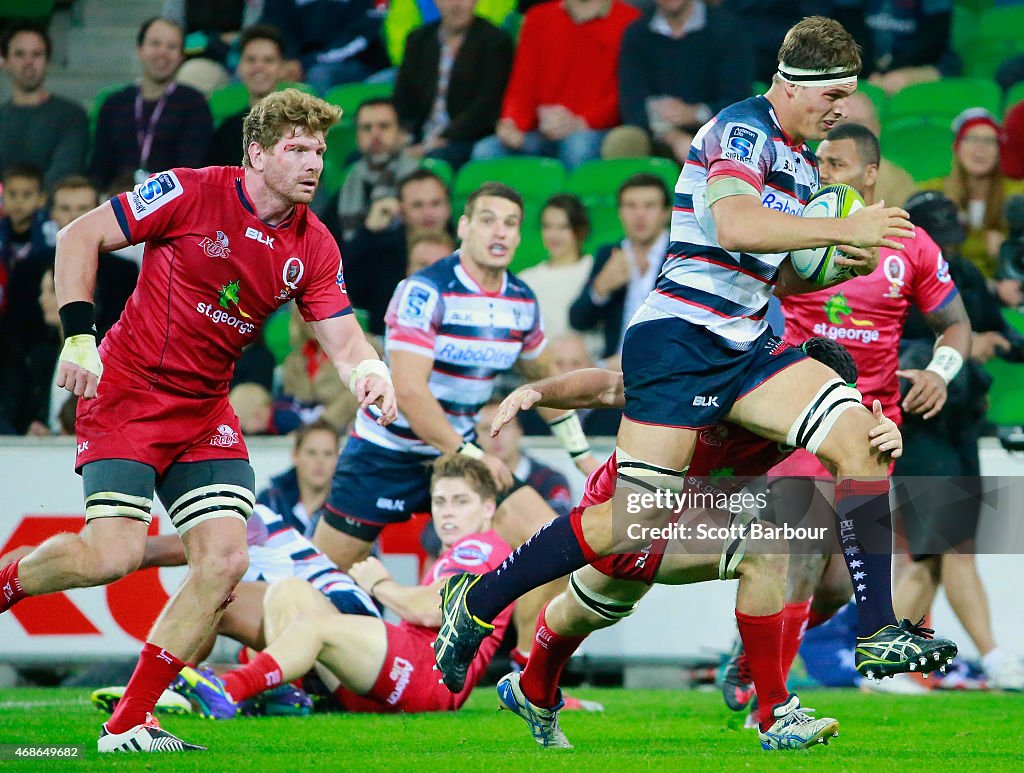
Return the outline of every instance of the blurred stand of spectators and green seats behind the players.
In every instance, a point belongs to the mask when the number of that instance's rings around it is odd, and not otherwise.
[[[810,13],[863,48],[847,113],[881,137],[878,198],[939,191],[927,227],[977,280],[986,318],[972,319],[965,415],[982,432],[1024,424],[1024,2],[0,0],[0,433],[73,432],[53,383],[56,231],[151,172],[240,164],[249,106],[289,86],[344,110],[313,208],[370,333],[496,179],[525,198],[512,269],[560,367],[614,367],[693,134],[766,90],[782,35]],[[135,247],[101,256],[100,334],[140,260]],[[246,351],[232,403],[249,434],[344,430],[354,411],[287,307]],[[616,422],[598,412],[585,428]]]

